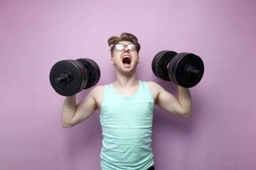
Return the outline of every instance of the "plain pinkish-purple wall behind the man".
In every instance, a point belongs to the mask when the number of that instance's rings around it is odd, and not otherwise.
[[[137,77],[174,95],[174,83],[153,75],[154,55],[193,52],[205,64],[191,88],[193,117],[155,108],[156,169],[256,169],[255,9],[253,0],[0,0],[0,169],[100,169],[98,112],[62,128],[64,97],[49,71],[59,60],[92,58],[98,85],[111,83],[107,40],[122,32],[141,43]]]

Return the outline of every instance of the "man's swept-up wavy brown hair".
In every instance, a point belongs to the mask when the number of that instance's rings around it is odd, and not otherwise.
[[[123,34],[121,34],[120,37],[118,36],[111,36],[110,38],[108,38],[108,46],[110,46],[110,52],[111,52],[111,56],[113,56],[113,52],[115,50],[115,44],[121,42],[121,41],[128,41],[128,42],[132,42],[136,45],[136,50],[137,53],[139,54],[139,50],[140,50],[140,44],[137,40],[137,37],[134,36],[133,34],[129,34],[127,32],[124,32]]]

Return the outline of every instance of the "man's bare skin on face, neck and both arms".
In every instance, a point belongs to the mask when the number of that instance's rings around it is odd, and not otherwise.
[[[131,42],[121,41],[121,44]],[[129,57],[131,63],[123,64],[123,58]],[[113,87],[121,95],[133,95],[139,89],[139,81],[136,79],[136,68],[139,64],[139,56],[136,50],[128,50],[127,46],[122,51],[115,49],[110,59],[110,64],[115,66],[117,78]],[[166,112],[183,117],[193,115],[192,101],[189,89],[178,86],[178,97],[175,97],[158,83],[147,82],[154,97],[154,102]],[[104,85],[94,87],[88,95],[78,104],[75,95],[65,97],[62,110],[62,126],[71,128],[89,118],[97,109],[100,114],[104,94]]]

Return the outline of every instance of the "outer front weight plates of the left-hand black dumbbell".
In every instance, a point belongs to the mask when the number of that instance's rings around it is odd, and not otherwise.
[[[61,76],[61,73],[69,75],[69,83],[56,83],[55,80]],[[84,73],[81,68],[72,60],[61,60],[53,65],[50,71],[50,82],[57,93],[64,96],[71,96],[78,93],[84,85]]]

